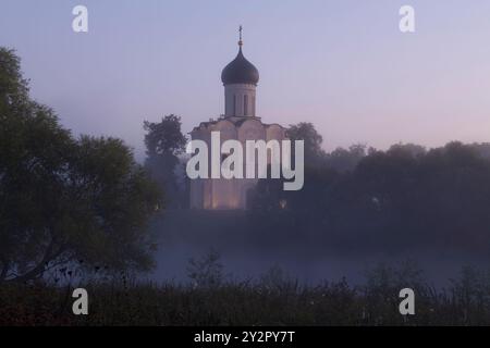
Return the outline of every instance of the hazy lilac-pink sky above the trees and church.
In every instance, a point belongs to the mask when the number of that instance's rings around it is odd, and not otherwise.
[[[87,34],[72,30],[76,4]],[[415,34],[399,30],[402,4]],[[65,126],[122,137],[139,159],[144,120],[175,113],[189,132],[223,113],[240,24],[265,122],[313,122],[328,150],[439,146],[490,141],[489,17],[488,0],[0,0],[0,46]]]

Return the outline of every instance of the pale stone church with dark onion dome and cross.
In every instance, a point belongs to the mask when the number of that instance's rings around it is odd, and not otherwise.
[[[211,132],[220,132],[221,141],[283,140],[285,128],[264,123],[257,115],[259,72],[243,54],[242,27],[238,53],[221,73],[224,86],[224,114],[218,120],[201,122],[191,132],[191,138],[210,147]],[[223,159],[222,159],[223,160]],[[245,210],[257,178],[196,178],[191,181],[191,208],[205,210]]]

